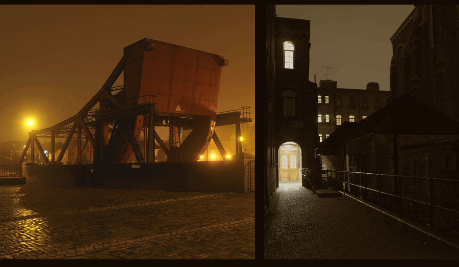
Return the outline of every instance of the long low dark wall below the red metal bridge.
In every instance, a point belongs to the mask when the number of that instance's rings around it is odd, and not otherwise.
[[[218,162],[23,166],[28,189],[101,186],[110,189],[244,192],[243,158]]]

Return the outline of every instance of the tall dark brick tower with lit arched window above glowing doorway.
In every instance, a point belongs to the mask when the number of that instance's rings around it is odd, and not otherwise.
[[[317,85],[308,81],[310,21],[275,18],[275,147],[278,180],[301,180],[316,162]]]

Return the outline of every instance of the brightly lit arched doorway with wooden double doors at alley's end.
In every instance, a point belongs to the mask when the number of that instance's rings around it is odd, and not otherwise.
[[[301,147],[295,142],[279,146],[279,181],[301,181]]]

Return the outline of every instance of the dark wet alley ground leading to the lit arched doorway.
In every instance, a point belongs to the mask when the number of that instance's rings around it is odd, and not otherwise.
[[[459,259],[459,250],[355,200],[279,185],[265,220],[265,259]]]

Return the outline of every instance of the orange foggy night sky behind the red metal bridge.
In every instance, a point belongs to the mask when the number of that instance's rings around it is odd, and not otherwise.
[[[27,141],[29,118],[41,129],[77,114],[123,48],[143,38],[227,59],[217,112],[251,106],[253,123],[254,13],[253,5],[0,6],[0,142]],[[113,86],[122,81],[123,74]]]

